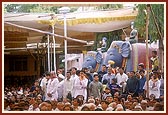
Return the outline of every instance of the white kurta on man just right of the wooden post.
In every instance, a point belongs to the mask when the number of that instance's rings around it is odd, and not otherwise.
[[[151,94],[154,94],[156,98],[159,98],[160,96],[160,80],[153,81],[149,80],[149,96]]]

